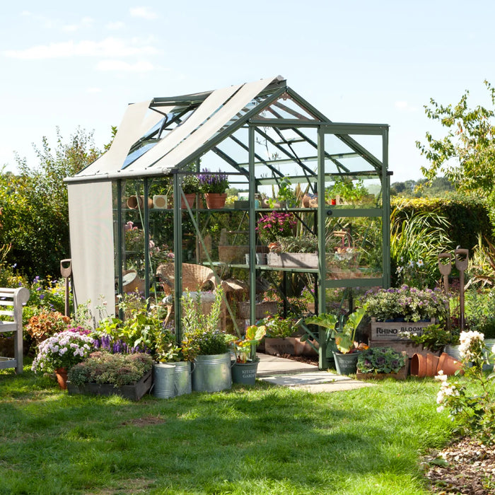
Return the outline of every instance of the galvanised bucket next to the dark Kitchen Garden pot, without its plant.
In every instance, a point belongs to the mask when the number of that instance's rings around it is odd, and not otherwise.
[[[197,356],[192,371],[192,390],[219,392],[232,387],[231,353]]]

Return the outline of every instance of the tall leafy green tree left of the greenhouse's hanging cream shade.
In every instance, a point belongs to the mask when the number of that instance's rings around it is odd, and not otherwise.
[[[0,175],[3,209],[0,244],[12,244],[8,262],[21,274],[60,276],[60,260],[69,257],[69,207],[64,177],[78,173],[98,156],[93,133],[78,128],[64,143],[57,128],[52,151],[46,137],[35,148],[39,161],[30,167],[16,156],[19,175]]]

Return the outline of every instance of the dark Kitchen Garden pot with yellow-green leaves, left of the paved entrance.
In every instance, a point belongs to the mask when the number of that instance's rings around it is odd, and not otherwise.
[[[256,372],[260,359],[256,356],[256,347],[267,333],[264,325],[250,325],[242,339],[232,342],[235,363],[232,365],[233,383],[255,385]]]

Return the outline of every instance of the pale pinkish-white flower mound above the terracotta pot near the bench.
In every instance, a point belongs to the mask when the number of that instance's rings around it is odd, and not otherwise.
[[[38,346],[38,354],[33,361],[33,371],[54,371],[57,368],[69,369],[83,361],[93,351],[93,337],[89,330],[80,332],[72,328],[54,334]]]

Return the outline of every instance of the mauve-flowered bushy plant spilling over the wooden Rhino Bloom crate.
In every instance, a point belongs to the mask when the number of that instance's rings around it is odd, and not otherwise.
[[[399,289],[380,289],[365,294],[368,315],[377,321],[404,318],[406,321],[445,320],[448,298],[440,289],[416,289],[407,285]]]

